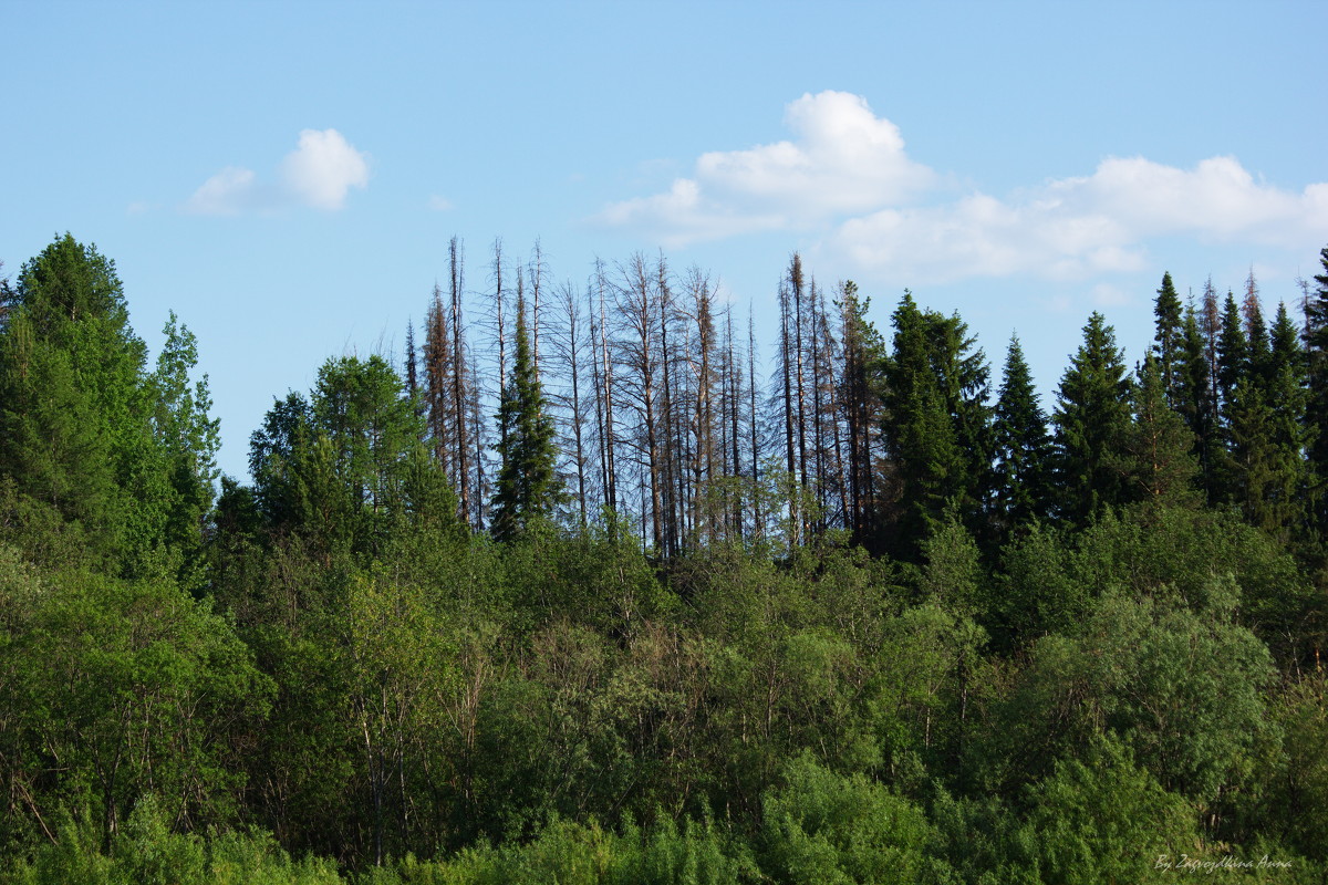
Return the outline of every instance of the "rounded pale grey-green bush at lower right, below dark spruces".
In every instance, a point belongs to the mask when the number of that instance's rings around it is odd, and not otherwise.
[[[1110,731],[1165,787],[1214,801],[1266,728],[1272,678],[1267,647],[1231,622],[1235,600],[1231,581],[1198,612],[1108,594],[1076,634],[1036,644],[991,735],[997,755],[1037,772]]]

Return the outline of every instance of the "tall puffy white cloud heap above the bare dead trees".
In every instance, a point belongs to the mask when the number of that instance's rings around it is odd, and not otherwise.
[[[712,151],[692,178],[663,194],[614,203],[600,220],[641,227],[672,244],[764,230],[802,230],[827,218],[900,203],[935,182],[908,159],[899,127],[866,100],[805,94],[785,109],[795,141]]]

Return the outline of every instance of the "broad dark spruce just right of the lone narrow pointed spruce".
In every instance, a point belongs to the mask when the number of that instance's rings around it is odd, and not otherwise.
[[[1066,519],[1084,523],[1127,498],[1117,460],[1130,426],[1130,386],[1116,332],[1094,312],[1061,377],[1053,415],[1058,511]]]

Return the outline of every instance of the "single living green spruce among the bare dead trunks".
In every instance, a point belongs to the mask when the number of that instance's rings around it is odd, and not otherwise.
[[[517,353],[507,389],[498,406],[502,435],[493,532],[498,540],[521,535],[531,523],[552,515],[562,500],[554,446],[554,421],[531,357],[525,299],[517,299]]]

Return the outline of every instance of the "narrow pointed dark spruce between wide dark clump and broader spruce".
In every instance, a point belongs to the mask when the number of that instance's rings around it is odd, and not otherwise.
[[[992,437],[996,487],[992,511],[997,532],[1045,519],[1050,503],[1052,438],[1046,413],[1037,402],[1033,377],[1017,337],[1011,337],[1005,372],[996,401]]]

